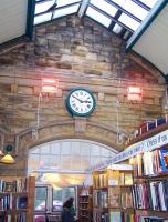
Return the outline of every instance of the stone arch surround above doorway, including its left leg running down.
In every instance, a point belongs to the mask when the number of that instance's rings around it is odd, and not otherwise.
[[[62,139],[83,139],[98,142],[117,151],[123,150],[123,145],[117,143],[117,130],[112,125],[102,125],[98,122],[86,121],[86,130],[82,134],[75,132],[75,119],[42,125],[38,130],[38,137],[32,137],[32,129],[28,129],[15,135],[18,145],[18,157],[15,165],[2,165],[1,170],[6,174],[25,175],[28,169],[29,149],[45,142]]]

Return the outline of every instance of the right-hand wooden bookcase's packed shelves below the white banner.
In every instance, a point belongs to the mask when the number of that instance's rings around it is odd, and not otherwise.
[[[164,168],[164,162],[160,160],[162,158],[161,149],[168,152],[168,148],[165,147],[130,159],[134,168],[133,192],[137,222],[141,221],[141,216],[157,216],[168,220],[168,171],[162,172],[161,170]],[[145,161],[144,155],[147,154],[149,157]],[[146,167],[150,168],[148,172],[145,170]],[[166,200],[165,189],[167,190]]]

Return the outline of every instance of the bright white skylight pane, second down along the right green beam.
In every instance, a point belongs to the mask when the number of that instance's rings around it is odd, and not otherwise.
[[[140,6],[133,2],[132,0],[125,1],[125,3],[123,4],[123,8],[141,20],[144,20],[145,17],[148,14],[148,11],[146,11],[145,9],[143,9]]]

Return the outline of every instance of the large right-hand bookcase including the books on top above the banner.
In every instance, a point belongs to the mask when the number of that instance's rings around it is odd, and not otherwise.
[[[147,139],[147,144],[149,144],[147,151],[139,152],[129,159],[134,172],[133,196],[136,222],[168,221],[168,147],[166,142],[168,135],[167,131],[164,131],[162,137],[157,134],[166,130],[167,125],[168,123],[162,124],[134,140],[140,142]],[[154,149],[154,144],[161,140],[164,144]],[[134,144],[133,141],[130,143]]]

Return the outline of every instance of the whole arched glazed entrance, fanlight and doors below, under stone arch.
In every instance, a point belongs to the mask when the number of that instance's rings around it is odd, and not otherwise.
[[[56,213],[69,196],[77,208],[77,189],[88,179],[87,168],[117,153],[107,145],[82,139],[64,139],[29,150],[28,174],[36,176],[35,221]],[[45,219],[44,219],[45,220]]]

